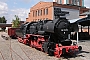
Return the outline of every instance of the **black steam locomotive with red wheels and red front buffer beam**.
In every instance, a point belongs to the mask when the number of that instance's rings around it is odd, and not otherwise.
[[[63,54],[75,54],[82,49],[70,39],[71,32],[77,31],[76,23],[60,17],[22,24],[20,29],[16,30],[16,35],[19,42],[59,58]]]

